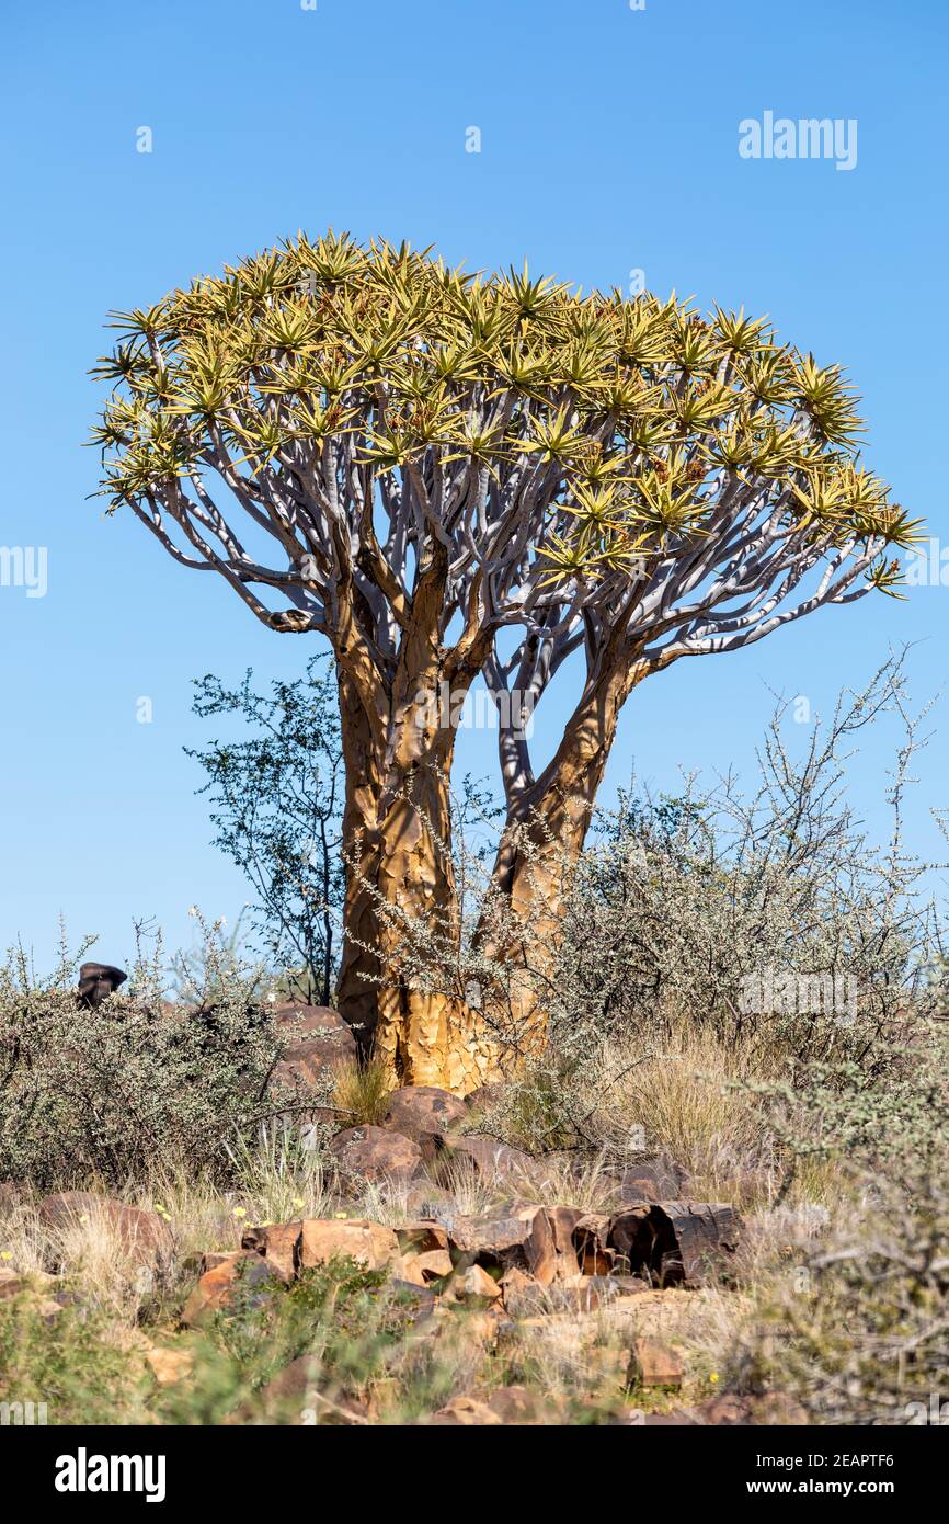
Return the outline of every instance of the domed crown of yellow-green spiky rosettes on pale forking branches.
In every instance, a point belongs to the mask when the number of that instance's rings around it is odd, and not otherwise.
[[[427,576],[457,658],[536,696],[617,626],[666,664],[894,591],[917,538],[841,370],[743,312],[329,233],[113,323],[111,506],[273,628],[329,636],[367,703]]]

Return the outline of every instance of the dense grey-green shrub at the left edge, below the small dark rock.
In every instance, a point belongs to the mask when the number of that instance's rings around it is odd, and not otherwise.
[[[128,994],[79,1010],[64,951],[50,980],[14,952],[0,966],[0,1178],[40,1189],[97,1175],[123,1184],[160,1161],[228,1169],[224,1141],[274,1109],[280,1036],[257,975],[206,928],[210,1009],[161,998],[158,952]],[[291,1102],[288,1093],[280,1096]]]

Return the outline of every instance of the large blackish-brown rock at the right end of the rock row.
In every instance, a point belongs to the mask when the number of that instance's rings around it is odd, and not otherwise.
[[[664,1201],[618,1212],[609,1224],[609,1245],[660,1286],[701,1286],[714,1279],[734,1254],[740,1218],[727,1205]]]

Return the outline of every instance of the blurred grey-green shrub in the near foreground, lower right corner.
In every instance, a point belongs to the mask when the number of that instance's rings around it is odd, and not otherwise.
[[[786,1146],[832,1157],[838,1212],[775,1273],[739,1341],[737,1385],[780,1385],[818,1423],[949,1417],[949,1041],[917,1039],[896,1084],[809,1087]],[[832,1079],[835,1082],[832,1082]],[[771,1097],[772,1103],[777,1097]],[[783,1106],[774,1125],[784,1123]],[[943,1410],[943,1404],[946,1408]]]

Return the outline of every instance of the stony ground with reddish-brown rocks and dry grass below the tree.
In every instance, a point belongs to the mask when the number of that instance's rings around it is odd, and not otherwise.
[[[728,1204],[684,1199],[664,1157],[538,1160],[472,1123],[419,1087],[337,1132],[303,1183],[271,1160],[267,1192],[3,1187],[2,1394],[50,1422],[110,1381],[99,1422],[801,1419],[722,1393],[748,1311]]]

